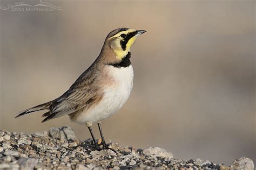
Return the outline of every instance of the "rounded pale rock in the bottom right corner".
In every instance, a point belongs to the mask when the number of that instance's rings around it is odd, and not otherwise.
[[[246,157],[241,157],[239,159],[234,160],[231,167],[238,170],[239,169],[253,170],[254,164],[251,159]]]

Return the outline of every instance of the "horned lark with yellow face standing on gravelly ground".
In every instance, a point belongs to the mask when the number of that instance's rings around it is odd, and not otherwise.
[[[145,30],[118,28],[107,34],[103,47],[92,65],[72,86],[55,100],[23,110],[15,117],[48,110],[42,122],[68,115],[71,122],[86,125],[94,146],[99,144],[92,124],[97,123],[102,149],[107,149],[100,122],[116,114],[130,96],[133,87],[133,67],[130,48]]]

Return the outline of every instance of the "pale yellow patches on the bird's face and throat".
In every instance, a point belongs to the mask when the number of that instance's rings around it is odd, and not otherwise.
[[[124,41],[124,38],[121,37],[121,35],[122,34],[127,35],[131,32],[135,32],[135,31],[136,30],[129,29],[126,31],[119,32],[109,38],[110,40],[113,39],[113,41],[111,41],[111,48],[113,49],[114,53],[116,54],[117,59],[122,60],[122,58],[124,58],[127,55],[127,53],[130,51],[130,48],[131,48],[133,42],[136,40],[135,36],[131,37],[127,41],[127,43],[125,45],[125,49],[123,49],[122,45],[121,45],[121,41]]]

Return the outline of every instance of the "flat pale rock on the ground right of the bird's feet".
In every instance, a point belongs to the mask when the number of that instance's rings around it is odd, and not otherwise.
[[[149,155],[151,157],[164,157],[164,158],[173,158],[173,154],[171,152],[165,151],[160,147],[148,147],[143,150],[145,155]]]

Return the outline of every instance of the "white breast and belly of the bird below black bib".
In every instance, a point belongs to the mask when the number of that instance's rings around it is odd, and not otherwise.
[[[107,66],[114,83],[104,88],[102,100],[79,115],[77,123],[96,123],[116,113],[130,96],[133,87],[133,68]]]

